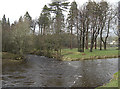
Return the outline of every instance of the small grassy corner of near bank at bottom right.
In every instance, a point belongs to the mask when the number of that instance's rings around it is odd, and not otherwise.
[[[118,78],[118,76],[120,76],[120,71],[113,75],[113,79],[111,79],[109,83],[104,84],[103,86],[100,86],[96,89],[105,89],[108,87],[118,87],[118,89],[120,89],[120,86],[118,85],[118,83],[120,82],[120,79]]]

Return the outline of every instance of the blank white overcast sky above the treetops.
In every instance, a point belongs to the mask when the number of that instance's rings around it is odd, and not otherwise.
[[[74,0],[68,0],[70,2]],[[75,0],[79,5],[87,2],[88,0]],[[99,0],[95,0],[99,1]],[[107,0],[110,3],[116,3],[119,0]],[[29,12],[30,16],[33,19],[38,18],[43,6],[49,4],[51,0],[1,0],[0,3],[0,19],[3,15],[6,15],[6,18],[10,18],[10,21],[13,22],[18,20],[20,16],[23,16],[26,11]]]

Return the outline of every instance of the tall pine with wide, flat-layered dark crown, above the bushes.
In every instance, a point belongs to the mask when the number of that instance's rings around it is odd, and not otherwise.
[[[56,22],[56,33],[59,34],[62,32],[63,22],[64,22],[64,15],[63,11],[68,9],[69,2],[66,2],[67,0],[52,0],[52,3],[50,5],[50,11],[55,14],[55,22]]]

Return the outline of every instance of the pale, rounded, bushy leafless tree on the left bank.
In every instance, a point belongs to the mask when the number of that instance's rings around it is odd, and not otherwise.
[[[21,20],[17,22],[11,32],[12,52],[23,55],[30,48],[30,39],[28,21]]]

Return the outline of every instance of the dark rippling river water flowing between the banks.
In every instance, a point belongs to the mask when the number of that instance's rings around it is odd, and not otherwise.
[[[118,71],[118,58],[57,61],[28,55],[21,64],[3,66],[3,87],[97,87]]]

